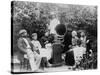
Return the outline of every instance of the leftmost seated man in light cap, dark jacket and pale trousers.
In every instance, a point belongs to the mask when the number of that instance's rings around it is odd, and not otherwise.
[[[36,71],[37,67],[34,61],[33,45],[30,38],[27,36],[27,31],[22,29],[19,31],[20,38],[18,39],[18,48],[20,49],[23,57],[27,55],[32,71]]]

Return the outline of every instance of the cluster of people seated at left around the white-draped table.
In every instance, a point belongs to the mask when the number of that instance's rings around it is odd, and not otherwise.
[[[48,35],[47,33],[45,35]],[[18,48],[20,49],[23,57],[27,57],[32,71],[36,71],[41,66],[41,61],[46,58],[45,63],[50,65],[48,60],[51,58],[52,49],[51,44],[48,43],[47,38],[42,37],[41,43],[37,40],[37,33],[33,33],[30,39],[25,29],[19,31]],[[48,44],[47,44],[48,43]]]

